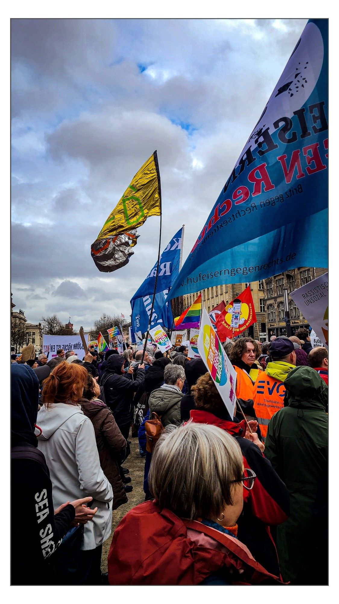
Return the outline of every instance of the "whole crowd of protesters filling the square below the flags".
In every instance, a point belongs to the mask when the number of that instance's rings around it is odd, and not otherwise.
[[[307,330],[224,350],[233,417],[185,345],[11,355],[11,538],[30,550],[11,548],[13,585],[328,583],[328,350]],[[131,437],[145,501],[103,574]]]

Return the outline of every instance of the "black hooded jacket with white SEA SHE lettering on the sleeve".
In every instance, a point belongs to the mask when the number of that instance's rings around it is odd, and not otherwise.
[[[55,583],[48,562],[75,518],[71,504],[54,516],[48,467],[36,454],[38,397],[34,371],[11,365],[11,585]]]

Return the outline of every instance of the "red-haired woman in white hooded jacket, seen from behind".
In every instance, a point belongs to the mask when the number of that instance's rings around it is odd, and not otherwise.
[[[92,496],[93,507],[98,507],[93,521],[84,527],[77,583],[100,585],[101,550],[111,532],[113,492],[100,467],[92,422],[78,403],[86,382],[86,369],[66,361],[43,381],[38,448],[51,475],[55,506]]]

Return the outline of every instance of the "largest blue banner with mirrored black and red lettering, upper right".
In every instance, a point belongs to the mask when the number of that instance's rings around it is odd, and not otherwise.
[[[308,22],[169,298],[328,266],[328,21]],[[246,277],[246,278],[244,278]]]

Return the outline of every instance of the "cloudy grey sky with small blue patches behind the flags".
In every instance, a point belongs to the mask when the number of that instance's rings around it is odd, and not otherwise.
[[[36,323],[78,329],[130,315],[156,262],[159,217],[127,266],[90,256],[107,216],[157,149],[162,248],[183,260],[261,115],[306,19],[11,21],[11,278]]]

